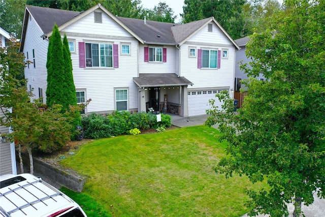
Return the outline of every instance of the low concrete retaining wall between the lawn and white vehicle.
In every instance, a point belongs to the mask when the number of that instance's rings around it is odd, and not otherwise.
[[[29,171],[28,155],[25,153],[21,153],[21,157],[24,166],[27,166]],[[16,158],[17,158],[17,162],[19,162],[18,153],[16,153]],[[34,157],[33,157],[33,162],[34,162],[34,175],[41,176],[42,179],[44,179],[45,181],[47,181],[47,179],[53,181],[55,184],[50,183],[52,185],[64,186],[78,193],[82,191],[85,182],[84,178],[69,174],[64,170],[61,170],[57,167],[53,167],[52,165]]]

